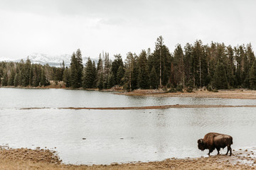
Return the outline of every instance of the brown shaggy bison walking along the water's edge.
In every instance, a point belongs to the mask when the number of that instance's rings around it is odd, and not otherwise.
[[[202,151],[204,149],[209,149],[209,156],[210,153],[216,148],[218,154],[220,154],[220,148],[228,147],[228,152],[230,152],[230,156],[232,154],[232,149],[230,145],[233,144],[233,138],[230,135],[223,135],[216,132],[209,132],[206,134],[203,139],[198,140],[198,149]],[[226,155],[228,154],[226,153]]]

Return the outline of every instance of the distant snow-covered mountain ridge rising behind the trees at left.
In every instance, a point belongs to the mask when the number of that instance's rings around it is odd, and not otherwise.
[[[26,58],[22,58],[24,62],[26,62],[27,58],[31,60],[31,63],[33,64],[49,64],[50,66],[54,67],[60,67],[60,64],[65,63],[65,66],[69,67],[70,66],[70,60],[71,60],[71,55],[46,55],[46,54],[41,54],[41,53],[33,53],[31,55],[28,55]],[[82,63],[85,64],[88,60],[88,57],[82,57]],[[92,61],[95,61],[97,63],[97,60],[92,59]],[[0,61],[13,61],[13,62],[20,62],[21,59],[18,60],[10,60],[6,58],[0,58]]]

